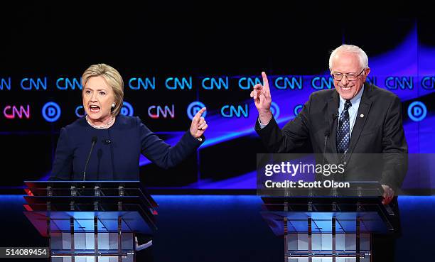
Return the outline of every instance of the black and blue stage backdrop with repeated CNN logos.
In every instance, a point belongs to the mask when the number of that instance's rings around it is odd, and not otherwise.
[[[171,170],[141,158],[141,180],[149,187],[254,189],[256,153],[264,148],[254,132],[253,85],[267,72],[272,111],[283,126],[312,92],[333,88],[328,57],[342,43],[363,48],[371,68],[367,80],[401,99],[409,152],[434,152],[434,21],[342,21],[321,11],[301,19],[268,11],[264,19],[153,6],[25,4],[5,12],[2,187],[48,178],[60,128],[84,115],[80,76],[100,62],[124,78],[121,114],[139,116],[168,143],[181,138],[200,107],[208,109],[207,140],[196,155]],[[415,178],[407,178],[407,186],[431,187]]]

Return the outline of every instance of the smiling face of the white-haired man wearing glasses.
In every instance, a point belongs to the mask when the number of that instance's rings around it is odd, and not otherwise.
[[[360,92],[369,72],[370,68],[363,70],[357,54],[338,52],[333,57],[331,74],[342,75],[341,80],[334,79],[334,87],[343,99],[353,99]],[[356,76],[356,80],[348,80],[345,74]]]

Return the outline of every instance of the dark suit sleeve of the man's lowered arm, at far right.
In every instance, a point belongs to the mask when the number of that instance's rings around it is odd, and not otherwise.
[[[394,96],[387,109],[382,133],[384,168],[380,182],[396,189],[402,185],[408,166],[408,145],[402,124],[402,106],[397,96]]]

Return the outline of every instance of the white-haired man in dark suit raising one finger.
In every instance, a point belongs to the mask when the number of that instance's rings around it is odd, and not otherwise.
[[[255,85],[251,92],[259,111],[255,130],[272,153],[289,153],[310,141],[313,153],[337,154],[346,165],[348,180],[362,180],[353,175],[360,175],[360,168],[365,168],[364,174],[371,177],[363,180],[380,181],[383,203],[388,204],[402,184],[407,167],[400,100],[392,92],[365,83],[370,73],[368,58],[355,45],[336,48],[329,69],[335,89],[313,92],[301,112],[282,130],[272,116],[269,83],[262,72],[263,84]],[[382,165],[374,165],[369,155],[357,156],[367,153],[382,153]]]

